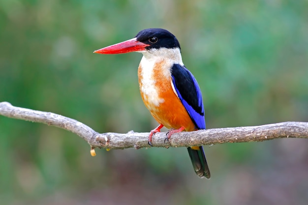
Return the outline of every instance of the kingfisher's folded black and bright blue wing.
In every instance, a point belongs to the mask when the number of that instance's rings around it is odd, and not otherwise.
[[[185,66],[174,64],[172,83],[197,129],[205,129],[204,107],[199,85]]]

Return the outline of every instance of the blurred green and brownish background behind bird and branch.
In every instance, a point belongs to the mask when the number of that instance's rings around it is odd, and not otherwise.
[[[308,121],[307,0],[0,0],[0,101],[98,132],[149,132],[141,54],[96,49],[141,29],[174,33],[207,128]],[[1,205],[306,205],[308,141],[96,150],[67,131],[0,116]]]

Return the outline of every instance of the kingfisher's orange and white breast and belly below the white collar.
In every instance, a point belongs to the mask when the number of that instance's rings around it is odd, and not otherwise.
[[[185,107],[171,86],[170,70],[168,68],[168,72],[166,72],[164,66],[163,61],[155,63],[152,71],[145,74],[143,71],[145,68],[139,65],[138,79],[143,102],[157,122],[168,129],[184,127],[185,131],[196,130]],[[145,75],[150,75],[150,78]]]

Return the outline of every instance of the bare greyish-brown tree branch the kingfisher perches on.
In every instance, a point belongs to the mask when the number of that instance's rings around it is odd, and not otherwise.
[[[32,122],[56,126],[75,133],[86,140],[92,148],[124,149],[150,147],[150,133],[130,131],[126,134],[98,133],[91,127],[69,117],[50,112],[35,111],[14,107],[8,102],[0,102],[0,115]],[[308,138],[308,122],[281,122],[250,127],[231,127],[219,129],[181,132],[172,135],[164,143],[166,133],[156,133],[153,138],[155,147],[200,146],[222,143],[261,142],[277,138]]]

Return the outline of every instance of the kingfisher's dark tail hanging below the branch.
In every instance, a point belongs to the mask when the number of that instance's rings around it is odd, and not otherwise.
[[[192,162],[193,169],[195,173],[203,178],[211,177],[210,170],[208,167],[207,160],[205,159],[204,151],[202,146],[187,147],[190,160]]]

